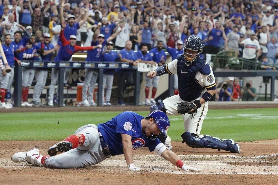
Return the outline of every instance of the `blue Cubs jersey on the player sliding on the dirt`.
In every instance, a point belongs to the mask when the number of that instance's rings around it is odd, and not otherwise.
[[[109,146],[112,156],[123,154],[122,134],[131,136],[133,150],[140,147],[148,147],[152,152],[161,143],[158,139],[147,139],[142,133],[141,120],[144,117],[134,112],[123,112],[110,121],[98,124],[98,130],[102,134],[105,143]]]

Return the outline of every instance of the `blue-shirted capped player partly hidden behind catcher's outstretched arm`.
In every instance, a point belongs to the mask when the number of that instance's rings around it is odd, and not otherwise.
[[[183,54],[183,42],[182,40],[177,41],[177,49],[176,48],[171,48],[167,46],[167,51],[172,57],[172,61],[177,58],[179,54]],[[179,94],[179,87],[178,87],[178,75],[174,74],[174,94],[177,95]]]

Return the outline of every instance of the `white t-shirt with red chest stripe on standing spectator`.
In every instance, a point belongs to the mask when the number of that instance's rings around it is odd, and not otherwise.
[[[256,58],[256,51],[261,49],[259,41],[256,39],[251,40],[250,38],[244,39],[240,42],[244,44],[242,58],[244,59],[253,59]]]

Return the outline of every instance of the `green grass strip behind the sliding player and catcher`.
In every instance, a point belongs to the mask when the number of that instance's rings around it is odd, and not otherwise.
[[[278,139],[278,109],[209,110],[201,134],[220,139],[255,141]],[[85,124],[104,123],[120,112],[1,113],[0,141],[61,140]],[[148,112],[139,111],[140,115]],[[169,135],[181,141],[182,116],[169,116]],[[59,124],[57,124],[59,121]]]

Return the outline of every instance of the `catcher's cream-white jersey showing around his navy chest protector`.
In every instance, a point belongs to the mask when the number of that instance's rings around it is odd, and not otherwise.
[[[173,75],[173,74],[177,74],[177,63],[178,60],[175,59],[169,63],[166,64],[166,70],[167,72],[169,72],[169,74]],[[206,62],[205,65],[209,65],[209,63]],[[211,66],[209,66],[211,73],[209,75],[205,75],[200,73],[200,71],[198,71],[195,75],[195,78],[197,80],[197,82],[202,86],[205,87],[204,90],[202,91],[201,95],[199,96],[199,98],[196,98],[196,100],[200,100],[200,98],[203,96],[203,94],[207,91],[206,89],[209,89],[213,86],[215,86],[215,77],[213,75],[213,71]],[[182,75],[184,75],[184,78],[188,78],[186,76],[186,71],[181,71]]]

